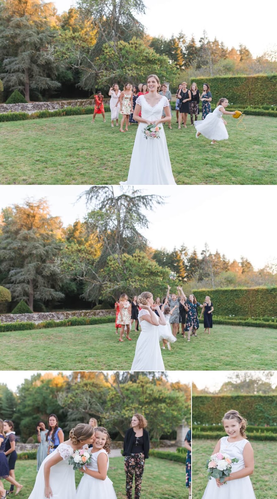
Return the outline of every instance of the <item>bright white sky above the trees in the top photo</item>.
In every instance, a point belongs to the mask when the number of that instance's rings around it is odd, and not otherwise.
[[[74,0],[54,0],[54,4],[61,13],[74,5]],[[274,0],[269,0],[265,7],[260,4],[261,8],[250,0],[233,0],[229,4],[222,0],[210,0],[207,4],[144,0],[144,4],[146,15],[139,20],[150,36],[169,38],[183,31],[189,39],[193,34],[198,42],[205,29],[210,39],[216,37],[228,48],[234,46],[238,49],[239,43],[246,45],[254,57],[276,46],[274,25],[269,28],[269,19],[277,16]],[[183,8],[185,14],[182,14]],[[192,12],[197,12],[197,20],[193,23]]]

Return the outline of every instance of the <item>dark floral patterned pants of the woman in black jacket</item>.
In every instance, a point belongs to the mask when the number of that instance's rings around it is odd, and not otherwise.
[[[135,498],[140,498],[141,480],[144,470],[144,454],[131,454],[125,457],[126,498],[132,499],[133,477],[135,473]]]

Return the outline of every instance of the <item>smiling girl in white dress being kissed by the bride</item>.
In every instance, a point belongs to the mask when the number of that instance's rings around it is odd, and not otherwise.
[[[76,499],[117,499],[113,482],[107,477],[110,446],[111,438],[106,428],[95,428],[92,461],[80,470],[84,476],[77,488]]]

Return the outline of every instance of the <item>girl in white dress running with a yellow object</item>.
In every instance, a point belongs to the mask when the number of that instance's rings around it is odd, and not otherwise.
[[[223,97],[219,99],[217,107],[212,113],[207,114],[203,121],[195,121],[194,126],[197,130],[196,138],[203,135],[206,139],[212,139],[211,144],[216,144],[216,140],[226,140],[229,135],[226,129],[227,121],[222,118],[223,114],[235,114],[235,111],[225,111],[228,106],[228,99]]]

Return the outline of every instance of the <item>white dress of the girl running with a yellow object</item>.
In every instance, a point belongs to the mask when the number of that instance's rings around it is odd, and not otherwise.
[[[197,132],[200,132],[204,137],[211,140],[226,140],[229,135],[224,125],[222,111],[217,106],[212,113],[207,114],[206,118],[201,121],[195,121],[194,126]]]

